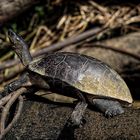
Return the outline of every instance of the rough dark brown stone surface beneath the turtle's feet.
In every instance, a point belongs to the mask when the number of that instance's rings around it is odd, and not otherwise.
[[[47,101],[26,101],[20,120],[5,140],[56,140],[62,130],[65,131],[64,125],[73,107]],[[61,139],[140,139],[140,110],[125,108],[124,114],[107,119],[100,112],[88,108],[85,119],[83,127],[75,129],[74,133],[66,130],[67,137]]]

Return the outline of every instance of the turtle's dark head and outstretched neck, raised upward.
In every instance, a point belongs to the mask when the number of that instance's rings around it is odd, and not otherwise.
[[[23,38],[17,35],[13,30],[8,30],[8,37],[13,44],[12,49],[16,52],[19,56],[21,62],[24,66],[28,66],[29,63],[32,61],[32,57],[28,50],[28,46],[23,40]]]

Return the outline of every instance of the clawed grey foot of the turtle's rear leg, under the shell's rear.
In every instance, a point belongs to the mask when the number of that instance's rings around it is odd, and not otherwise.
[[[122,113],[124,113],[122,108],[110,107],[105,111],[105,117],[111,118]]]

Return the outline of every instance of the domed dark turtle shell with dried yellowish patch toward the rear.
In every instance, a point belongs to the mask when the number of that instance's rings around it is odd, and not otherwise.
[[[28,67],[42,76],[57,80],[94,96],[132,103],[124,80],[108,65],[95,58],[68,52],[48,54],[34,59]]]

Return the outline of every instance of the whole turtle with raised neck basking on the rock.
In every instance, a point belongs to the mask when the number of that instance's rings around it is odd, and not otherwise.
[[[124,113],[123,106],[131,106],[133,99],[121,76],[106,63],[72,52],[51,52],[34,58],[27,43],[13,30],[8,30],[12,49],[27,73],[8,84],[12,92],[22,86],[55,91],[58,96],[77,99],[71,120],[79,125],[90,104],[106,117]]]

